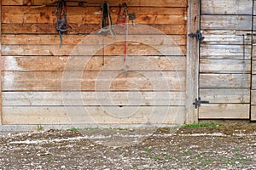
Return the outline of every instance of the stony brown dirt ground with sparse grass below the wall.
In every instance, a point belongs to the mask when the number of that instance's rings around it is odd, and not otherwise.
[[[256,169],[256,123],[0,137],[0,169]]]

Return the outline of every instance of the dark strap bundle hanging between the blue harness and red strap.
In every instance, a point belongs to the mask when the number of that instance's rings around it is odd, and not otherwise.
[[[102,33],[102,35],[107,36],[108,31],[110,31],[112,37],[115,37],[115,33],[112,28],[112,19],[109,10],[109,3],[102,3],[102,24],[99,33]]]

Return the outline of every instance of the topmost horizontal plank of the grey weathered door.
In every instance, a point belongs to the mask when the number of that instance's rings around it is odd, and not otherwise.
[[[202,0],[201,14],[253,14],[252,7],[252,0]]]

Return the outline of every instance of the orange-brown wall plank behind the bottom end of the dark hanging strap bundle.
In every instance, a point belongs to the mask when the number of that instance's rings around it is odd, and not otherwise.
[[[139,25],[129,27],[129,35],[134,34],[186,34],[186,25],[148,25],[151,27],[146,31],[140,29]],[[99,31],[99,24],[88,25],[88,24],[72,24],[73,29],[67,31],[67,34],[91,34]],[[114,30],[117,30],[117,26],[113,26]],[[143,27],[144,28],[144,27]],[[119,28],[120,29],[120,28]],[[157,31],[160,32],[157,32]],[[58,35],[56,31],[55,24],[2,24],[2,33],[15,33],[15,34],[55,34]],[[65,35],[65,34],[64,34]]]

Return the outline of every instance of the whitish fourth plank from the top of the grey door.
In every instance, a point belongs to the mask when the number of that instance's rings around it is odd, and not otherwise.
[[[251,46],[201,45],[201,59],[251,59]]]

